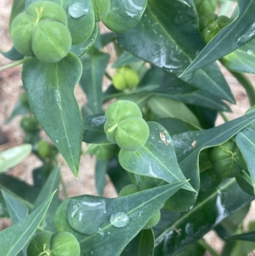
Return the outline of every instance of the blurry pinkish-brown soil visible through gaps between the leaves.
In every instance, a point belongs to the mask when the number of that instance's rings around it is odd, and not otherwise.
[[[7,51],[11,48],[12,43],[10,36],[8,34],[8,20],[10,17],[12,0],[0,0],[0,49]],[[101,32],[105,32],[105,27],[101,26]],[[111,74],[114,72],[110,66],[115,60],[114,54],[112,54],[112,45],[106,47],[106,52],[111,54],[110,64],[108,66],[108,72]],[[5,59],[3,56],[0,56],[0,67],[5,64],[11,63],[8,59]],[[237,80],[231,76],[231,74],[221,66],[221,70],[228,81],[228,84],[231,87],[231,91],[235,96],[237,105],[230,105],[232,113],[226,113],[230,119],[235,119],[237,117],[243,116],[247,109],[249,109],[249,100],[245,90],[238,84]],[[10,124],[4,124],[6,119],[10,116],[15,103],[17,102],[20,94],[22,93],[22,81],[21,81],[21,66],[16,66],[9,70],[5,70],[0,73],[0,134],[5,135],[8,138],[8,143],[0,146],[0,151],[8,149],[13,146],[18,146],[22,144],[24,138],[24,133],[20,129],[19,122],[20,117],[16,117]],[[252,84],[255,87],[255,75],[247,75],[251,79]],[[108,80],[104,80],[104,87],[108,86]],[[82,89],[77,86],[75,89],[75,95],[77,97],[80,107],[86,102],[86,98]],[[216,125],[223,123],[221,116],[217,118]],[[45,139],[47,135],[43,133]],[[85,144],[83,145],[85,148]],[[78,176],[78,181],[73,177],[71,170],[66,165],[66,162],[59,157],[61,162],[61,172],[66,187],[68,189],[69,197],[82,194],[91,194],[96,195],[96,189],[94,186],[94,164],[95,159],[88,155],[83,155],[80,162],[80,172]],[[41,165],[40,161],[35,156],[29,156],[24,162],[17,165],[17,167],[8,170],[7,174],[18,177],[29,184],[32,184],[31,172],[36,167]],[[104,192],[105,197],[116,197],[117,193],[113,188],[110,179],[108,179],[108,184]],[[255,202],[252,202],[252,207],[249,211],[249,214],[244,220],[245,226],[249,221],[255,220]],[[11,225],[9,219],[1,218],[0,219],[0,230],[5,229]],[[205,239],[210,245],[212,245],[218,252],[221,251],[223,241],[217,237],[214,231],[208,232],[205,236]],[[207,256],[210,253],[206,254]],[[249,256],[255,255],[251,254]]]

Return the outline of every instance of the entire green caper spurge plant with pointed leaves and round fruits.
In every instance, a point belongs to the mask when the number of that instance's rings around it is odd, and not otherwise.
[[[242,232],[255,184],[255,90],[243,74],[255,73],[254,10],[254,0],[14,0],[13,47],[1,53],[15,62],[0,70],[23,64],[25,92],[8,121],[26,115],[20,126],[32,146],[0,153],[0,172],[30,151],[42,165],[34,186],[0,176],[0,216],[14,223],[0,232],[1,253],[217,255],[202,239],[209,230]],[[103,24],[112,32],[100,33]],[[108,43],[118,56],[113,77]],[[223,100],[235,99],[216,60],[251,103],[233,121]],[[88,100],[81,110],[78,83]],[[215,127],[218,113],[226,122]],[[61,202],[57,154],[77,177],[82,142],[97,159],[98,196]],[[102,197],[106,174],[119,197]],[[222,255],[237,255],[238,243]]]

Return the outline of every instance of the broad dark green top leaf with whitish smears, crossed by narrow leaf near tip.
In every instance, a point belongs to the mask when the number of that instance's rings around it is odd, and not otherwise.
[[[118,40],[121,47],[134,56],[175,77],[180,76],[205,46],[198,32],[194,4],[189,7],[167,0],[149,0],[140,22],[133,29],[119,34]],[[180,79],[219,98],[235,102],[215,63]]]

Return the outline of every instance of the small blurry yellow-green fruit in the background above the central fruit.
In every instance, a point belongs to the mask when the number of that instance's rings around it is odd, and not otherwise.
[[[128,66],[118,68],[112,77],[113,86],[119,91],[134,89],[139,83],[139,75]]]

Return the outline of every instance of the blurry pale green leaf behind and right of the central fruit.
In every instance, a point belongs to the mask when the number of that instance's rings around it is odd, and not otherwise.
[[[152,112],[160,118],[179,117],[180,119],[200,126],[196,116],[182,102],[177,102],[169,98],[154,96],[149,100],[149,106]]]

